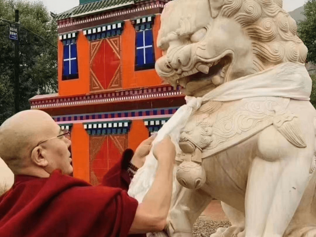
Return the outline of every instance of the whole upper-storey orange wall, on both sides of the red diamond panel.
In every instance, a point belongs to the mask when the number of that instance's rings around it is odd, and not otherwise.
[[[157,48],[157,35],[160,28],[160,15],[156,15],[153,25],[155,59],[162,56]],[[125,21],[121,35],[121,64],[123,88],[148,87],[161,84],[161,79],[155,69],[135,71],[135,38],[136,31],[131,21]],[[78,72],[79,79],[62,81],[63,50],[61,40],[58,40],[58,93],[60,96],[88,94],[90,92],[90,44],[89,40],[80,31],[77,37]]]

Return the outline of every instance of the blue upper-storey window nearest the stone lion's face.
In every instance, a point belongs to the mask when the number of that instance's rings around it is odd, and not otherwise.
[[[135,70],[155,68],[154,40],[151,29],[136,32],[135,61]]]

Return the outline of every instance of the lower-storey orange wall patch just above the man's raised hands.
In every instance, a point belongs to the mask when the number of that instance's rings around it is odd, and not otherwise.
[[[144,125],[143,120],[133,120],[130,132],[128,133],[128,148],[133,151],[136,150],[138,145],[147,139],[149,136],[148,129]]]

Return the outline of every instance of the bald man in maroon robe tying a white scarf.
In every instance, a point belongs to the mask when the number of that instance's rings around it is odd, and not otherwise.
[[[115,185],[92,186],[69,176],[68,138],[68,131],[37,110],[19,112],[0,126],[0,157],[15,175],[12,188],[0,197],[1,237],[126,237],[164,229],[175,159],[170,138],[153,148],[158,169],[140,204]],[[125,152],[117,169],[120,177],[123,170],[142,165],[152,140],[143,142],[135,154]],[[111,183],[113,175],[105,177],[104,184]]]

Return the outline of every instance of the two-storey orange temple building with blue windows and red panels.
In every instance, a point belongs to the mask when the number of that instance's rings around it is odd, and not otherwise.
[[[30,99],[71,131],[73,175],[93,185],[185,103],[155,72],[169,0],[80,0],[56,16],[58,93]]]

